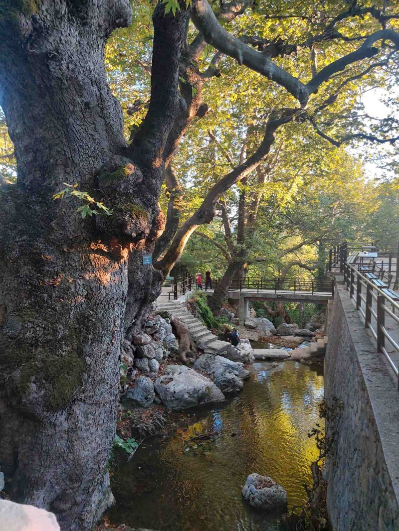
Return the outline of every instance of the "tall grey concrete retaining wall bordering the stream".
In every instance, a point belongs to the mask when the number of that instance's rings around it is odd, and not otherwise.
[[[399,392],[397,379],[365,331],[346,290],[332,305],[325,359],[327,404],[343,406],[326,464],[327,507],[334,531],[399,530]]]

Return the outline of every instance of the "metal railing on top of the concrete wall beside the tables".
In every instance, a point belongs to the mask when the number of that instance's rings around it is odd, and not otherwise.
[[[385,327],[387,316],[399,325],[399,301],[389,297],[384,293],[384,288],[378,288],[372,281],[364,277],[355,265],[346,262],[343,270],[346,289],[349,291],[350,297],[356,301],[356,310],[359,310],[363,316],[364,327],[370,330],[377,341],[377,352],[385,355],[395,374],[399,376],[398,367],[386,348],[386,341],[392,345],[397,354],[399,354],[399,344]],[[364,307],[362,307],[362,303]],[[396,310],[398,315],[395,313]],[[399,327],[396,330],[399,331]]]

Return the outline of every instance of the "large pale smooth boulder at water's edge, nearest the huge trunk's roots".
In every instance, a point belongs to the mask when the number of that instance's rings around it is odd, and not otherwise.
[[[186,409],[225,399],[209,378],[184,365],[169,365],[155,380],[154,387],[168,409]]]

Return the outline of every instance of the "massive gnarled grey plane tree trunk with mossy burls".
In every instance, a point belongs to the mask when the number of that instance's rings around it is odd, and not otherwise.
[[[105,42],[130,23],[129,0],[6,4],[0,103],[18,184],[0,187],[0,467],[11,499],[54,511],[63,531],[81,531],[111,496],[105,465],[122,340],[160,291],[162,273],[142,256],[162,229],[164,167],[148,159],[156,142],[146,150],[146,131],[136,151],[127,148],[106,82]],[[166,19],[162,12],[161,26]],[[165,35],[174,42],[154,38],[161,59],[176,56],[155,105],[176,99],[184,21],[173,24]],[[173,106],[168,116],[155,127],[160,149]],[[82,219],[75,198],[53,201],[63,182],[77,182],[113,215]]]

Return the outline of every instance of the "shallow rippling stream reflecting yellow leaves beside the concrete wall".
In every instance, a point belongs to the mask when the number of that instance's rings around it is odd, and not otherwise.
[[[239,395],[189,410],[171,438],[148,439],[130,462],[120,458],[110,523],[168,531],[284,529],[247,505],[241,490],[256,472],[284,486],[289,509],[306,501],[303,484],[312,484],[310,465],[318,456],[307,433],[321,422],[322,398],[321,367],[254,363]]]

